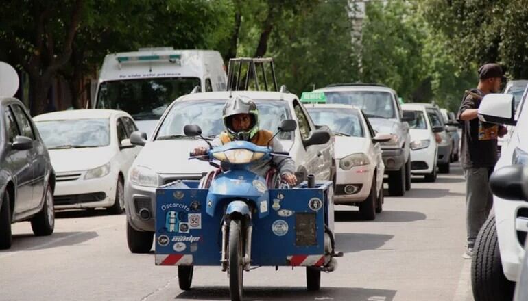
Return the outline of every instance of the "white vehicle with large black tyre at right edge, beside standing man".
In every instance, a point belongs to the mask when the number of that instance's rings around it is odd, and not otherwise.
[[[479,107],[479,118],[487,122],[515,125],[503,145],[495,170],[512,164],[528,165],[528,102],[526,93],[515,113],[512,94],[488,94]],[[518,121],[516,121],[518,120]],[[528,233],[528,203],[494,196],[494,215],[482,226],[473,249],[474,296],[496,296],[512,300],[514,281],[525,257]]]

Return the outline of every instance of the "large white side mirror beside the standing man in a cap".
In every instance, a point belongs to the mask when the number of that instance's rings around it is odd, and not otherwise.
[[[487,94],[479,106],[479,120],[504,125],[516,125],[515,101],[512,94]]]

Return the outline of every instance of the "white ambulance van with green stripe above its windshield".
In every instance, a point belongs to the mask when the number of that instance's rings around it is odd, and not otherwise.
[[[226,67],[218,51],[158,47],[109,54],[93,107],[128,112],[150,135],[167,106],[196,86],[202,92],[226,90]]]

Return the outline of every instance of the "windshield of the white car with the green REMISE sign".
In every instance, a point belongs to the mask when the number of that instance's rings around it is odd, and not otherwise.
[[[356,109],[323,107],[308,107],[307,109],[316,125],[328,125],[337,135],[365,137],[361,117]]]

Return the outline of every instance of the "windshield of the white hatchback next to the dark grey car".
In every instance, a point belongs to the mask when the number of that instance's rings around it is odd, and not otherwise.
[[[108,118],[35,122],[48,149],[110,145]]]

